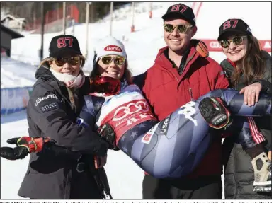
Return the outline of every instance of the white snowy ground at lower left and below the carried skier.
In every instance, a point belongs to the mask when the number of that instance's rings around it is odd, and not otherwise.
[[[1,116],[1,146],[6,139],[28,135],[25,111]],[[29,157],[29,156],[28,156]],[[28,159],[8,161],[1,158],[1,199],[21,199],[18,189],[28,168]],[[110,190],[115,199],[142,199],[144,172],[122,151],[108,151],[105,166]]]

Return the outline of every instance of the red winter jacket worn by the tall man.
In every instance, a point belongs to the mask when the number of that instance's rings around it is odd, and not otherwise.
[[[166,58],[164,54],[166,49],[168,47],[159,50],[155,64],[147,70],[147,77],[142,88],[159,120],[163,120],[181,105],[188,103],[191,98],[197,100],[209,91],[228,88],[229,82],[222,67],[210,57],[202,57],[195,47],[190,47],[181,76]],[[188,178],[198,178],[201,175],[221,175],[221,147],[222,142],[219,137],[212,143],[205,158],[193,173],[188,175]]]

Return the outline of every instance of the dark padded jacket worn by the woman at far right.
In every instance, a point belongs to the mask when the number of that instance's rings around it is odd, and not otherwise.
[[[266,60],[266,72],[263,80],[257,80],[262,85],[262,92],[271,93],[271,56],[262,51]],[[222,68],[229,77],[234,71],[234,66],[227,59],[221,63]],[[253,81],[253,83],[256,81]],[[233,87],[240,91],[244,83]],[[271,150],[271,117],[254,119],[261,133],[266,137],[266,148]],[[223,162],[224,162],[224,196],[225,199],[271,199],[271,193],[253,192],[253,166],[250,156],[244,151],[240,144],[235,143],[235,137],[224,139]]]

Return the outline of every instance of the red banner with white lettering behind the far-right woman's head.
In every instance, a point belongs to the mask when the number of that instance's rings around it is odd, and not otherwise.
[[[217,40],[201,40],[207,45],[207,50],[209,52],[222,52],[222,47],[219,45]],[[262,50],[266,52],[271,52],[271,40],[258,40],[261,44]]]

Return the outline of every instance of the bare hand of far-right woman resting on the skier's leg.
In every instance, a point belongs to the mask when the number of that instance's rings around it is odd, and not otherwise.
[[[244,104],[253,106],[258,102],[259,94],[262,89],[260,83],[253,83],[241,89],[240,94],[244,93]]]

